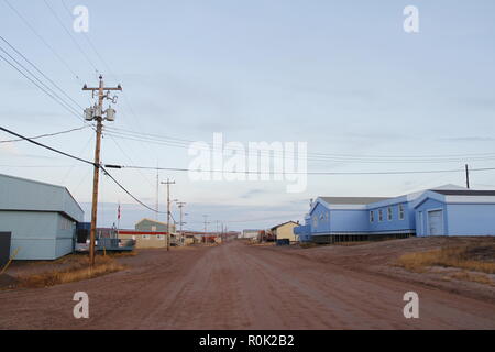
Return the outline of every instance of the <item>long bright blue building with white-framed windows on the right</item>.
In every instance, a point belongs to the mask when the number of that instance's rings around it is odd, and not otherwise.
[[[395,198],[319,197],[296,234],[319,243],[410,235],[494,235],[495,190],[453,185]]]

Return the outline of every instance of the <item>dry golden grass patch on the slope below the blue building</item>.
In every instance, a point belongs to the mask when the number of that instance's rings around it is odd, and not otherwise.
[[[429,266],[443,266],[495,274],[495,244],[458,245],[407,253],[398,258],[397,264],[413,272],[425,272]]]

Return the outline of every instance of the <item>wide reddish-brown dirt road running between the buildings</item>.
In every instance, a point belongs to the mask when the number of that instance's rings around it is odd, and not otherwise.
[[[41,289],[0,292],[1,329],[495,329],[495,305],[277,248],[142,252],[129,270]],[[75,292],[90,318],[73,317]],[[403,295],[419,295],[405,319]]]

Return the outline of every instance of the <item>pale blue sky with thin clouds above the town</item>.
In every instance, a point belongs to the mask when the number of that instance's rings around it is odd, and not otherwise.
[[[87,33],[73,30],[77,6],[89,11]],[[403,29],[407,6],[418,9],[418,33]],[[102,74],[106,85],[122,85],[117,119],[106,125],[141,138],[105,133],[103,163],[187,168],[190,142],[222,133],[245,146],[306,142],[309,172],[459,169],[308,175],[300,193],[287,193],[287,182],[195,182],[160,172],[160,180],[176,182],[172,199],[187,204],[186,228],[204,229],[207,215],[209,229],[218,220],[240,230],[302,221],[318,196],[399,196],[464,185],[465,163],[495,167],[494,14],[493,1],[0,0],[0,35],[80,116],[92,103],[82,84],[96,86]],[[6,42],[0,47],[36,73]],[[84,127],[1,59],[0,73],[0,125],[28,136]],[[91,160],[94,134],[86,127],[37,141]],[[0,141],[10,139],[0,132]],[[0,143],[0,173],[66,186],[89,220],[91,166],[12,142]],[[155,208],[156,170],[111,174]],[[494,189],[495,170],[472,172],[471,184]],[[158,187],[161,211],[165,191]],[[118,202],[123,228],[156,217],[105,175],[99,201],[99,226],[116,221]],[[178,220],[176,206],[173,215]]]

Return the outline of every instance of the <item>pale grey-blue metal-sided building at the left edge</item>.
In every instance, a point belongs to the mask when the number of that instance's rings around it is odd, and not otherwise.
[[[11,232],[15,260],[54,260],[73,252],[84,211],[62,186],[0,174],[0,232]]]

